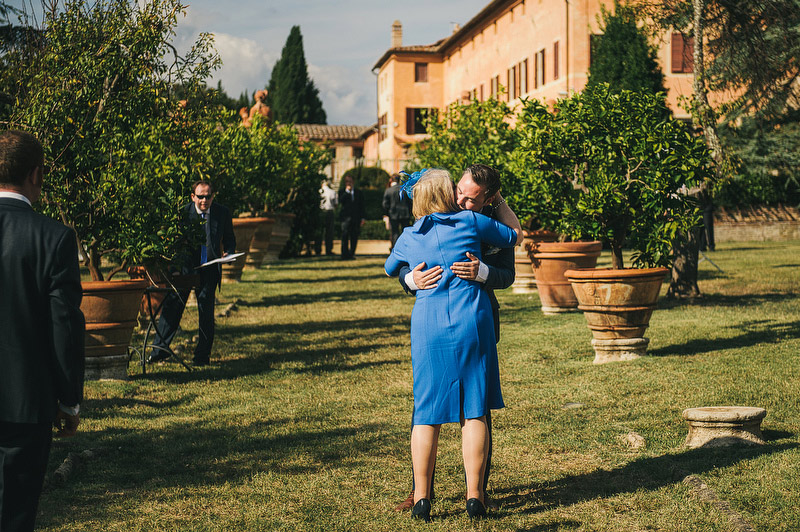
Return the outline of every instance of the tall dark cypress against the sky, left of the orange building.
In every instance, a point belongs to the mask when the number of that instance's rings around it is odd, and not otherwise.
[[[294,124],[326,123],[319,90],[308,77],[300,26],[292,26],[267,89],[267,105],[272,108],[275,120]]]

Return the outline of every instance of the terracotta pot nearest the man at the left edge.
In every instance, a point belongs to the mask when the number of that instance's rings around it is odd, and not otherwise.
[[[128,346],[149,284],[145,280],[82,283],[86,379],[128,378]]]

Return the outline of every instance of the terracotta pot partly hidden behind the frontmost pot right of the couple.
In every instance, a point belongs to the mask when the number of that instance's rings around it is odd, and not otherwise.
[[[564,272],[594,268],[603,249],[601,242],[532,242],[528,248],[539,289],[542,312],[552,316],[578,309],[578,300]]]

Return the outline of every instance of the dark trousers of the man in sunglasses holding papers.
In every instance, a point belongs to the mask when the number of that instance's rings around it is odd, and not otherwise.
[[[214,344],[214,303],[215,292],[219,285],[220,273],[215,266],[201,268],[200,280],[194,288],[197,298],[197,314],[199,318],[199,337],[194,348],[194,362],[207,363],[211,356],[211,347]],[[178,327],[181,324],[183,311],[186,309],[186,300],[191,289],[170,292],[164,298],[161,307],[161,317],[158,319],[158,335],[154,345],[162,348],[169,347]]]

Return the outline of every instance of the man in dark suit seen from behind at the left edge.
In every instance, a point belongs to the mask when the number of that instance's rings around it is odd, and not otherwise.
[[[84,320],[75,233],[33,212],[42,145],[0,133],[0,530],[33,530],[52,426],[78,429]]]

